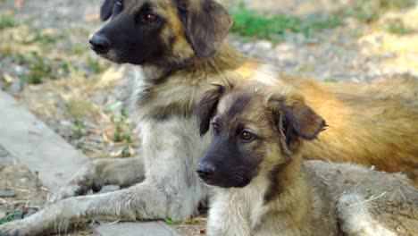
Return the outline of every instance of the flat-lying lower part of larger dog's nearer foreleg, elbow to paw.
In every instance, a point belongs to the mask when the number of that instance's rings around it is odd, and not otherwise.
[[[194,213],[197,204],[191,198],[198,195],[193,188],[172,186],[168,179],[143,181],[124,190],[63,199],[21,221],[0,225],[0,235],[64,232],[72,220],[83,217],[108,221],[167,217],[180,220]]]

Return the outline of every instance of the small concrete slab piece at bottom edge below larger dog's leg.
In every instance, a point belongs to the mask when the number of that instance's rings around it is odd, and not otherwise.
[[[180,236],[163,222],[103,224],[96,228],[96,233],[101,236]]]

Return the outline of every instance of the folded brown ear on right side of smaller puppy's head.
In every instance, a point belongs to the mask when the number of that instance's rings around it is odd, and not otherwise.
[[[280,132],[286,137],[288,147],[298,137],[316,139],[327,127],[325,120],[305,104],[304,97],[297,94],[281,96],[273,94],[269,98],[270,107]]]

